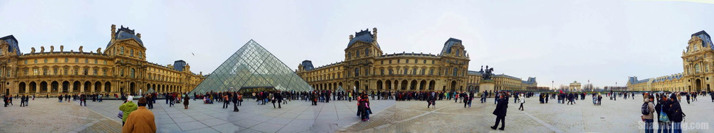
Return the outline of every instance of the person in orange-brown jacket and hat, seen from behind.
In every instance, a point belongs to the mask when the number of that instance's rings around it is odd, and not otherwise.
[[[139,108],[129,114],[121,132],[156,132],[154,112],[146,109],[146,104],[146,98],[139,98]]]

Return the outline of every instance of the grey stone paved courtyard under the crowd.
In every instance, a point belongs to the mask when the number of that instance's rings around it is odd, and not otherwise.
[[[358,119],[354,100],[316,106],[293,100],[273,109],[271,104],[257,105],[246,99],[240,112],[199,100],[191,100],[184,110],[181,104],[169,107],[165,100],[157,100],[151,111],[159,132],[643,132],[641,96],[635,98],[604,99],[603,105],[595,106],[591,100],[565,105],[551,99],[540,104],[533,97],[527,98],[524,111],[517,110],[518,104],[511,100],[505,131],[488,128],[496,118],[491,115],[493,98],[487,103],[476,99],[471,108],[453,100],[439,100],[437,108],[426,108],[424,101],[372,100],[375,113],[370,122]],[[682,104],[688,115],[685,122],[691,126],[685,132],[712,131],[714,103],[708,96],[699,99]],[[116,117],[120,100],[90,101],[86,107],[75,101],[58,103],[56,98],[36,98],[22,108],[19,100],[14,103],[0,108],[0,132],[121,132],[121,120]]]

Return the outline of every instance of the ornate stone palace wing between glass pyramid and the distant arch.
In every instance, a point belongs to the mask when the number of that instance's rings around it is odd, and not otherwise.
[[[296,73],[316,90],[359,91],[468,91],[478,90],[483,71],[468,71],[471,61],[461,40],[449,38],[438,54],[402,52],[384,54],[377,42],[377,28],[349,36],[344,61],[313,67],[310,60]],[[521,81],[496,75],[497,89],[525,89],[535,78]]]

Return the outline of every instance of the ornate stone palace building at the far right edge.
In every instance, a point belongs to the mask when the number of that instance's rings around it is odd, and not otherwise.
[[[714,45],[704,30],[694,33],[682,51],[683,73],[638,80],[628,79],[630,91],[710,91],[714,83]]]

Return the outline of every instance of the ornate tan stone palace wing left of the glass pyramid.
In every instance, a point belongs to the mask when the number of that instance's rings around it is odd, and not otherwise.
[[[13,35],[0,40],[0,88],[9,94],[186,92],[204,79],[183,60],[166,66],[146,62],[141,34],[116,25],[104,51],[66,51],[60,45],[24,54]]]

